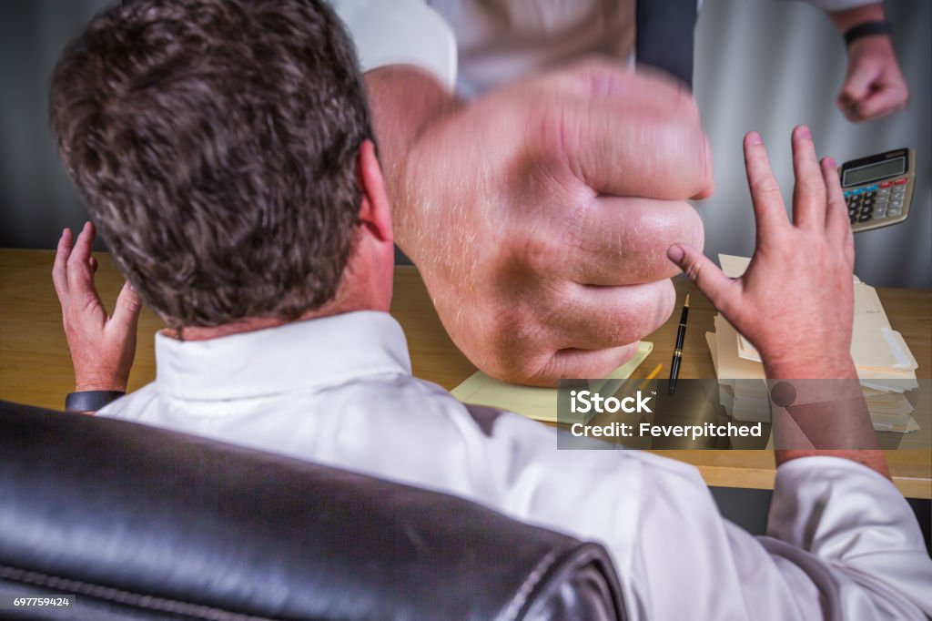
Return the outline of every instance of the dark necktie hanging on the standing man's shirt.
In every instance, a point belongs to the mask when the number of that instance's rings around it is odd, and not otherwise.
[[[695,23],[696,0],[637,0],[637,63],[663,69],[692,89]]]

